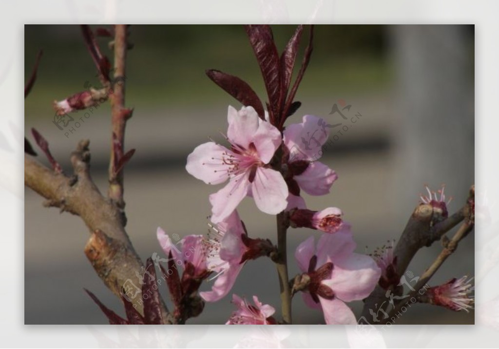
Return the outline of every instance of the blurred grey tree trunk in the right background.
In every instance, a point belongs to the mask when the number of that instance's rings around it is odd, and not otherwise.
[[[400,223],[407,220],[424,184],[446,193],[458,209],[474,183],[473,26],[389,27],[396,71],[397,110],[394,197]]]

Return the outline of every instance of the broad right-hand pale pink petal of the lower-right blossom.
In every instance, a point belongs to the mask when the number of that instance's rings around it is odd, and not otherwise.
[[[353,253],[348,259],[335,263],[331,279],[322,283],[342,301],[351,302],[369,296],[380,276],[381,269],[371,257]]]

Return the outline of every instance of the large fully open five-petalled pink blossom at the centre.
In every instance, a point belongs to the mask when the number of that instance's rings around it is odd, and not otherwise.
[[[229,106],[227,139],[231,148],[208,142],[187,158],[187,172],[207,184],[229,183],[210,196],[212,221],[228,217],[249,194],[262,212],[286,208],[288,190],[282,175],[267,165],[282,143],[279,130],[261,120],[252,107]]]

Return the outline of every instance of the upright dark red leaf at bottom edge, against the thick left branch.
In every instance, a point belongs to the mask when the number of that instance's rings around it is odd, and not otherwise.
[[[161,297],[156,282],[156,271],[154,270],[152,258],[148,258],[146,262],[142,298],[144,299],[144,319],[146,323],[150,325],[163,324]]]

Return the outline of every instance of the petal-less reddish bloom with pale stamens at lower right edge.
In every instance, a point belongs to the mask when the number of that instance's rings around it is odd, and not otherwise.
[[[474,297],[471,295],[475,289],[471,280],[464,276],[461,279],[452,279],[443,285],[431,287],[427,295],[430,303],[442,306],[454,311],[473,309]]]

